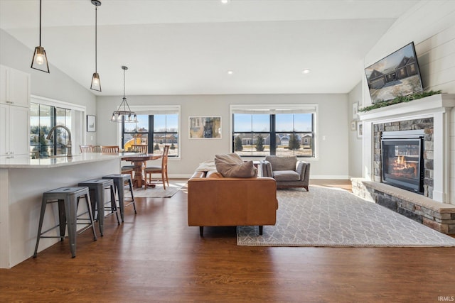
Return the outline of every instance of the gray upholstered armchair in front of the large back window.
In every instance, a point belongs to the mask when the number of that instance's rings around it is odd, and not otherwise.
[[[260,161],[262,177],[272,177],[277,188],[304,187],[309,191],[310,163],[297,160],[296,156],[267,155]]]

